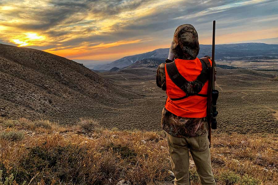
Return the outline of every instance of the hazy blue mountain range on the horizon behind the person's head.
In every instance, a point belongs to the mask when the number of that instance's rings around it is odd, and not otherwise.
[[[212,46],[200,44],[200,52],[198,57],[211,55]],[[256,60],[260,58],[274,58],[278,57],[278,44],[265,43],[238,43],[238,44],[218,44],[215,46],[216,60]],[[103,64],[95,66],[96,70],[109,70],[113,67],[124,68],[138,60],[150,58],[168,57],[169,48],[156,49],[151,52],[142,53],[138,55],[126,56],[119,60],[115,60],[110,64]]]

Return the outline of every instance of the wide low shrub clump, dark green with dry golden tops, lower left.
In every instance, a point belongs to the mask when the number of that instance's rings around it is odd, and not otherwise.
[[[50,146],[46,143],[28,149],[13,171],[18,171],[17,182],[22,182],[23,178],[29,182],[33,178],[32,184],[41,180],[45,184],[108,184],[111,176],[117,178],[122,173],[117,165],[119,158],[111,150],[103,153],[94,151],[75,144]]]

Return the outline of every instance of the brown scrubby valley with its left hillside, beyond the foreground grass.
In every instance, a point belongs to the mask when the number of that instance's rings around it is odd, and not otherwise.
[[[161,130],[166,93],[156,86],[155,75],[165,59],[146,58],[128,67],[93,72],[43,51],[0,47],[1,117],[61,125],[88,118],[108,129]],[[253,63],[262,61],[257,60]],[[277,71],[251,70],[255,68],[249,63],[217,60],[217,64],[241,68],[217,68],[219,116],[213,132],[278,134]]]

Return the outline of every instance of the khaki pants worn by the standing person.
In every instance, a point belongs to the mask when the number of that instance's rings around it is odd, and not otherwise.
[[[189,185],[189,152],[195,162],[202,185],[215,185],[211,169],[208,134],[194,138],[177,138],[167,134],[175,185]]]

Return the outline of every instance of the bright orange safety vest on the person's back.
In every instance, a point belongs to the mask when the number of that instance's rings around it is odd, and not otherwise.
[[[209,63],[211,66],[212,61],[209,60]],[[206,82],[204,83],[200,92],[197,92],[198,95],[193,94],[192,96],[189,96],[173,82],[167,72],[166,66],[167,64],[165,65],[165,74],[166,94],[168,97],[165,103],[165,108],[171,113],[180,117],[206,117],[208,101],[208,79],[205,79]],[[195,60],[175,59],[175,66],[179,74],[189,82],[195,81],[197,77],[200,76],[203,69],[203,65],[198,58],[196,58]]]

